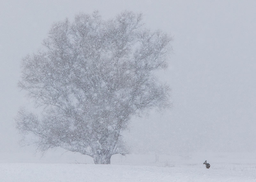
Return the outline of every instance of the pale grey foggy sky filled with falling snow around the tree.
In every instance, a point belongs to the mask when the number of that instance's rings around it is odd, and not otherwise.
[[[0,1],[0,152],[21,151],[14,118],[29,104],[17,88],[21,58],[40,48],[53,22],[95,10],[104,19],[143,13],[147,28],[174,38],[160,73],[173,108],[132,119],[124,133],[132,153],[256,151],[255,8],[234,0]]]

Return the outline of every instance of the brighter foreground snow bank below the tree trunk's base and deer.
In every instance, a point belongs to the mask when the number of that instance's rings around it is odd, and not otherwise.
[[[1,181],[256,181],[254,171],[93,164],[0,164]]]

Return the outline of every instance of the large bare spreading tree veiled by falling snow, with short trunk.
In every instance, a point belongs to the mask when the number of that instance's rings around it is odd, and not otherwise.
[[[95,164],[126,154],[120,132],[132,115],[169,106],[169,87],[155,71],[168,67],[171,38],[141,20],[126,11],[105,21],[94,12],[54,23],[42,48],[22,59],[18,87],[42,108],[19,111],[23,136],[33,134],[41,151],[61,147]]]

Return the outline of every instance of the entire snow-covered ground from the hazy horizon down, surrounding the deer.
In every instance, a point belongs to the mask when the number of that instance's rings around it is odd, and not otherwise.
[[[91,159],[70,153],[48,155],[33,163],[7,163],[1,157],[0,181],[4,182],[256,181],[256,158],[252,153],[159,155],[159,160],[153,154],[116,155],[111,165],[94,165]],[[210,169],[205,168],[204,160],[211,164]]]

